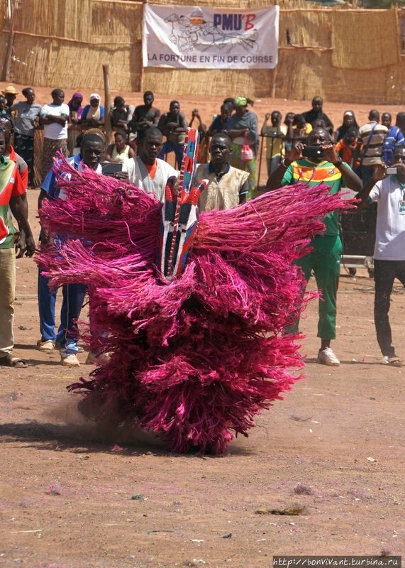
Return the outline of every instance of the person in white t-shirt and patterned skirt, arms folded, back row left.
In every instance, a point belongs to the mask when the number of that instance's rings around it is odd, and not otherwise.
[[[42,175],[43,180],[53,165],[57,151],[67,158],[67,121],[70,109],[64,103],[65,93],[62,89],[53,89],[52,103],[44,104],[40,111],[40,124],[44,127]]]

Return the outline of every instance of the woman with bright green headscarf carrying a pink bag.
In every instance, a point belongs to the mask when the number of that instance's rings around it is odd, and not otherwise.
[[[253,104],[253,101],[245,97],[235,98],[233,102],[235,114],[228,119],[228,131],[226,133],[232,140],[232,153],[229,156],[229,163],[234,168],[249,173],[248,199],[252,199],[255,197],[257,187],[256,155],[259,145],[259,126],[255,113],[248,110],[248,103]],[[244,146],[248,146],[252,151],[248,160],[242,152]]]

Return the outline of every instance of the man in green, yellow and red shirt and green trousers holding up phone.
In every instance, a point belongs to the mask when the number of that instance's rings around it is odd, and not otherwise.
[[[267,190],[276,190],[284,185],[305,182],[309,187],[320,183],[331,187],[331,194],[340,191],[343,185],[350,190],[359,191],[362,185],[360,178],[350,166],[339,158],[326,129],[315,128],[308,136],[308,145],[299,142],[287,153],[277,170],[267,180]],[[321,338],[321,349],[318,351],[318,363],[339,366],[338,357],[331,349],[331,339],[336,337],[336,296],[340,275],[340,254],[342,242],[339,236],[338,212],[330,213],[323,219],[326,231],[312,239],[310,253],[299,258],[297,265],[303,271],[306,281],[314,271],[319,300],[318,337]],[[299,321],[289,328],[296,332]]]

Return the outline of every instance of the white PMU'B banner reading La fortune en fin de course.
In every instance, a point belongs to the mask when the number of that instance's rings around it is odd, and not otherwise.
[[[262,10],[143,5],[143,66],[272,69],[279,6]]]

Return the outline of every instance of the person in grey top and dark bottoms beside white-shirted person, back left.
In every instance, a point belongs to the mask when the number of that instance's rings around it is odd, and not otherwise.
[[[17,112],[16,126],[14,129],[14,149],[16,153],[26,160],[28,165],[28,187],[34,187],[34,133],[38,124],[41,106],[35,103],[34,89],[26,87],[22,90],[26,101],[18,101],[10,107],[11,111]]]

